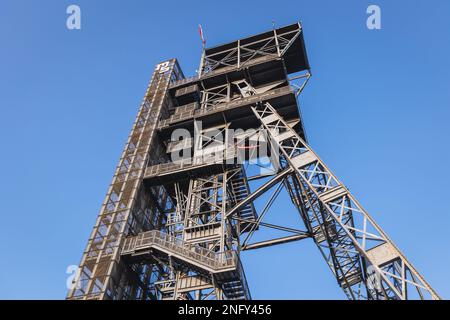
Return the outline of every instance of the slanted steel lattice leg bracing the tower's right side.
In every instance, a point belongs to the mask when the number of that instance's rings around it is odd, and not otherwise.
[[[308,213],[306,223],[315,223],[325,235],[325,246],[317,240],[316,243],[321,249],[328,249],[329,264],[349,298],[407,299],[407,288],[412,286],[421,298],[428,295],[439,299],[348,189],[276,110],[266,103],[256,105],[253,111],[295,170],[303,210]],[[378,286],[375,281],[379,282]],[[364,296],[366,292],[368,296]]]

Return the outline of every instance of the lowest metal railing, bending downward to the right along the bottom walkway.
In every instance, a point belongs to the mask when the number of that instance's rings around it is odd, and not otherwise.
[[[163,251],[178,254],[186,260],[203,264],[214,270],[236,268],[239,258],[235,251],[211,252],[195,244],[175,238],[159,230],[142,232],[137,236],[125,239],[122,255],[131,254],[156,246]]]

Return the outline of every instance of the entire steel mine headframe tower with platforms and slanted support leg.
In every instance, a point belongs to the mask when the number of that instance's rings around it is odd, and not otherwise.
[[[311,239],[349,299],[439,299],[307,144],[309,69],[300,23],[158,64],[68,298],[251,299],[241,252]]]

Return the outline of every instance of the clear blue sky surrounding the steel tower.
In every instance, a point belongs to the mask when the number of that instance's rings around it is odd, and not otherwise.
[[[371,3],[382,30],[366,28]],[[82,30],[66,29],[69,4]],[[65,297],[155,64],[193,75],[198,23],[215,45],[272,20],[303,23],[310,144],[450,298],[449,14],[445,0],[2,1],[0,298]],[[254,298],[344,298],[309,240],[244,261]]]

